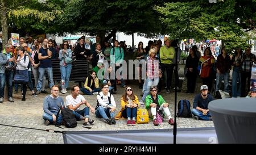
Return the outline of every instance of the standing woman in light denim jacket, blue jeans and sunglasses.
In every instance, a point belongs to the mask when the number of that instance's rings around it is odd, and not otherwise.
[[[69,77],[71,74],[72,64],[65,61],[65,57],[72,58],[72,51],[69,49],[68,41],[64,41],[63,49],[60,50],[60,73],[61,73],[61,93],[67,93]],[[67,63],[66,63],[67,62]]]

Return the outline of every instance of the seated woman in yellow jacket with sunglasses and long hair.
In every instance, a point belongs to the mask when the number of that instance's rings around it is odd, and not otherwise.
[[[127,118],[127,125],[135,125],[139,99],[133,94],[133,89],[130,86],[126,87],[125,94],[122,95],[121,106],[122,109],[115,116],[115,119]]]

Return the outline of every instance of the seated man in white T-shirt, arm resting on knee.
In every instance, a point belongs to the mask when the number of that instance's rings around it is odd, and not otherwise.
[[[80,95],[80,88],[78,85],[72,87],[71,95],[66,97],[66,104],[69,109],[74,111],[73,113],[75,114],[77,120],[85,121],[85,123],[82,124],[82,127],[92,128],[94,120],[89,119],[89,108],[93,113],[95,113],[95,109],[90,106],[89,102],[87,102],[82,95]],[[80,110],[80,106],[82,104],[85,104],[87,107]]]

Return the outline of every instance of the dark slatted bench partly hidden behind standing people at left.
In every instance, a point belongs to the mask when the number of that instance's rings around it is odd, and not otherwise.
[[[52,60],[52,73],[53,73],[53,81],[61,81],[61,73],[60,73],[60,60]],[[86,77],[89,75],[89,62],[85,60],[75,60],[72,62],[72,70],[71,75],[69,77],[69,81],[79,82],[81,86],[81,82],[85,82]],[[32,79],[34,79],[33,74],[31,74]],[[48,80],[47,72],[46,79]]]

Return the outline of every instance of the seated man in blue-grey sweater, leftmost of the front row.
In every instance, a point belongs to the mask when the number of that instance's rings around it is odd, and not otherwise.
[[[61,104],[64,105],[64,100],[62,97],[59,97],[59,87],[57,85],[53,85],[51,89],[51,95],[48,95],[46,98],[44,98],[44,124],[61,124],[63,120],[61,114],[59,114],[56,120],[57,112],[59,111]]]

